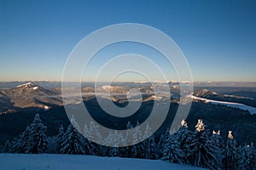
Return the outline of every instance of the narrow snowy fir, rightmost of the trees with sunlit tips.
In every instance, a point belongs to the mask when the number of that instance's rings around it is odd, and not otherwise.
[[[228,140],[224,150],[224,169],[239,169],[238,158],[239,150],[236,144],[236,139],[232,135],[232,131],[229,131]]]

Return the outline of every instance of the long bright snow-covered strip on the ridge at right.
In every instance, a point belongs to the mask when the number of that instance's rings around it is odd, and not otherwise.
[[[248,106],[248,105],[242,105],[242,104],[235,103],[235,102],[226,102],[226,101],[218,101],[218,100],[213,100],[213,99],[199,98],[199,97],[195,97],[193,95],[190,95],[189,97],[191,97],[192,99],[198,99],[198,100],[204,101],[206,103],[211,103],[213,105],[225,105],[228,107],[238,108],[238,109],[241,109],[244,111],[249,111],[252,115],[256,114],[256,108]]]

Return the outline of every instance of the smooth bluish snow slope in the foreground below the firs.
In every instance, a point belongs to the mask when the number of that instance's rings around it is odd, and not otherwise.
[[[166,161],[118,158],[118,157],[99,157],[99,156],[72,156],[72,155],[53,155],[53,154],[0,154],[0,169],[37,169],[37,170],[186,170],[202,169],[179,165]]]

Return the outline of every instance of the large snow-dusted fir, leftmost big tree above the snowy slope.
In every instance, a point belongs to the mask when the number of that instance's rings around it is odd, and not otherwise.
[[[39,114],[37,114],[32,124],[26,127],[26,130],[20,134],[20,138],[13,144],[13,151],[19,153],[44,153],[48,147],[46,136],[47,127],[42,123]]]

